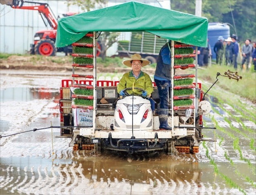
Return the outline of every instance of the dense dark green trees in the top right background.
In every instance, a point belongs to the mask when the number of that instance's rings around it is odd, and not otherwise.
[[[194,14],[195,0],[171,0],[171,8],[179,12]],[[202,0],[202,16],[206,17],[209,22],[231,24],[230,35],[237,34],[239,40],[242,41],[256,40],[255,10],[255,0]]]

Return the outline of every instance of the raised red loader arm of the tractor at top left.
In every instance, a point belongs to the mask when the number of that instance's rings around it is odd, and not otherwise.
[[[43,16],[46,18],[47,22],[50,24],[52,29],[55,29],[55,30],[57,29],[57,25],[58,25],[57,19],[47,3],[24,1],[24,0],[1,0],[0,3],[4,5],[9,5],[13,9],[37,10],[42,17],[45,23],[45,26],[47,26],[47,24]],[[33,5],[24,6],[24,3],[33,4]]]

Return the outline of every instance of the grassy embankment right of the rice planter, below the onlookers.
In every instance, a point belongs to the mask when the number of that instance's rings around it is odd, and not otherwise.
[[[218,82],[215,85],[232,92],[234,94],[238,94],[246,99],[249,99],[253,103],[256,103],[256,73],[252,73],[251,71],[245,70],[235,70],[231,66],[219,66],[212,65],[208,66],[204,69],[198,69],[198,78],[202,81],[208,81],[213,83],[216,81],[216,74],[220,73],[224,75],[226,71],[237,72],[239,76],[242,76],[242,80],[238,82],[236,80],[229,80],[227,77],[218,76]],[[225,93],[223,93],[225,96]]]

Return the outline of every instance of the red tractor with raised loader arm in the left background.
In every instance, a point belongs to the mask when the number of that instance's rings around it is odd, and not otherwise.
[[[31,2],[24,0],[1,0],[1,4],[9,5],[13,9],[30,9],[37,10],[47,27],[47,23],[51,26],[51,30],[42,30],[34,35],[34,44],[31,44],[30,54],[39,54],[43,56],[55,56],[56,52],[72,53],[72,46],[55,48],[55,40],[57,33],[58,21],[47,3]],[[28,4],[24,6],[24,3]],[[32,5],[30,5],[32,4]],[[71,16],[75,13],[62,14],[63,16]],[[58,17],[59,18],[59,17]],[[97,42],[97,56],[100,55],[100,44]]]

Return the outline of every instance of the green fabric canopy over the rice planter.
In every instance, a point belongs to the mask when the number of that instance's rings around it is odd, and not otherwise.
[[[126,2],[59,20],[56,47],[76,42],[91,31],[147,31],[162,38],[207,47],[208,20],[183,12]]]

